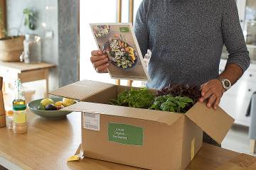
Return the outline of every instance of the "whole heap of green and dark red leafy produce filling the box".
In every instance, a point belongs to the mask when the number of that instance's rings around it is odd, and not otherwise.
[[[198,101],[200,94],[198,86],[172,84],[157,91],[156,95],[146,88],[123,91],[116,99],[110,100],[110,103],[116,106],[186,113]]]

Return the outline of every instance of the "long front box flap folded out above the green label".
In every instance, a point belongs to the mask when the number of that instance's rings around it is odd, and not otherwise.
[[[125,118],[137,118],[151,120],[154,122],[172,125],[181,118],[183,114],[170,113],[165,111],[154,111],[144,108],[129,108],[124,106],[113,106],[101,103],[78,102],[71,106],[61,109],[63,111],[80,111],[87,113],[100,113],[103,115],[115,115]]]

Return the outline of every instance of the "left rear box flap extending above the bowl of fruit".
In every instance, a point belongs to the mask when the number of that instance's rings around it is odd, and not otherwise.
[[[55,91],[50,91],[48,94],[62,96],[66,98],[73,98],[82,101],[85,98],[90,97],[105,89],[109,89],[112,86],[114,86],[114,84],[106,84],[91,80],[82,80],[77,81],[73,84],[69,84],[68,86],[60,87],[60,89],[57,89]]]

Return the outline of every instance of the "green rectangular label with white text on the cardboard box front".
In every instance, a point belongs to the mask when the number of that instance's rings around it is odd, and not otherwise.
[[[143,128],[126,125],[109,123],[108,137],[112,142],[118,142],[124,145],[143,145]]]

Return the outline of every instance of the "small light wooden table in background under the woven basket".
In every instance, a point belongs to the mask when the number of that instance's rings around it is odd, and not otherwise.
[[[1,62],[0,61],[0,77],[4,77],[4,81],[14,81],[21,79],[21,82],[46,80],[46,94],[48,92],[48,74],[49,69],[55,67],[54,64],[45,62],[36,64],[25,64],[23,62]]]

